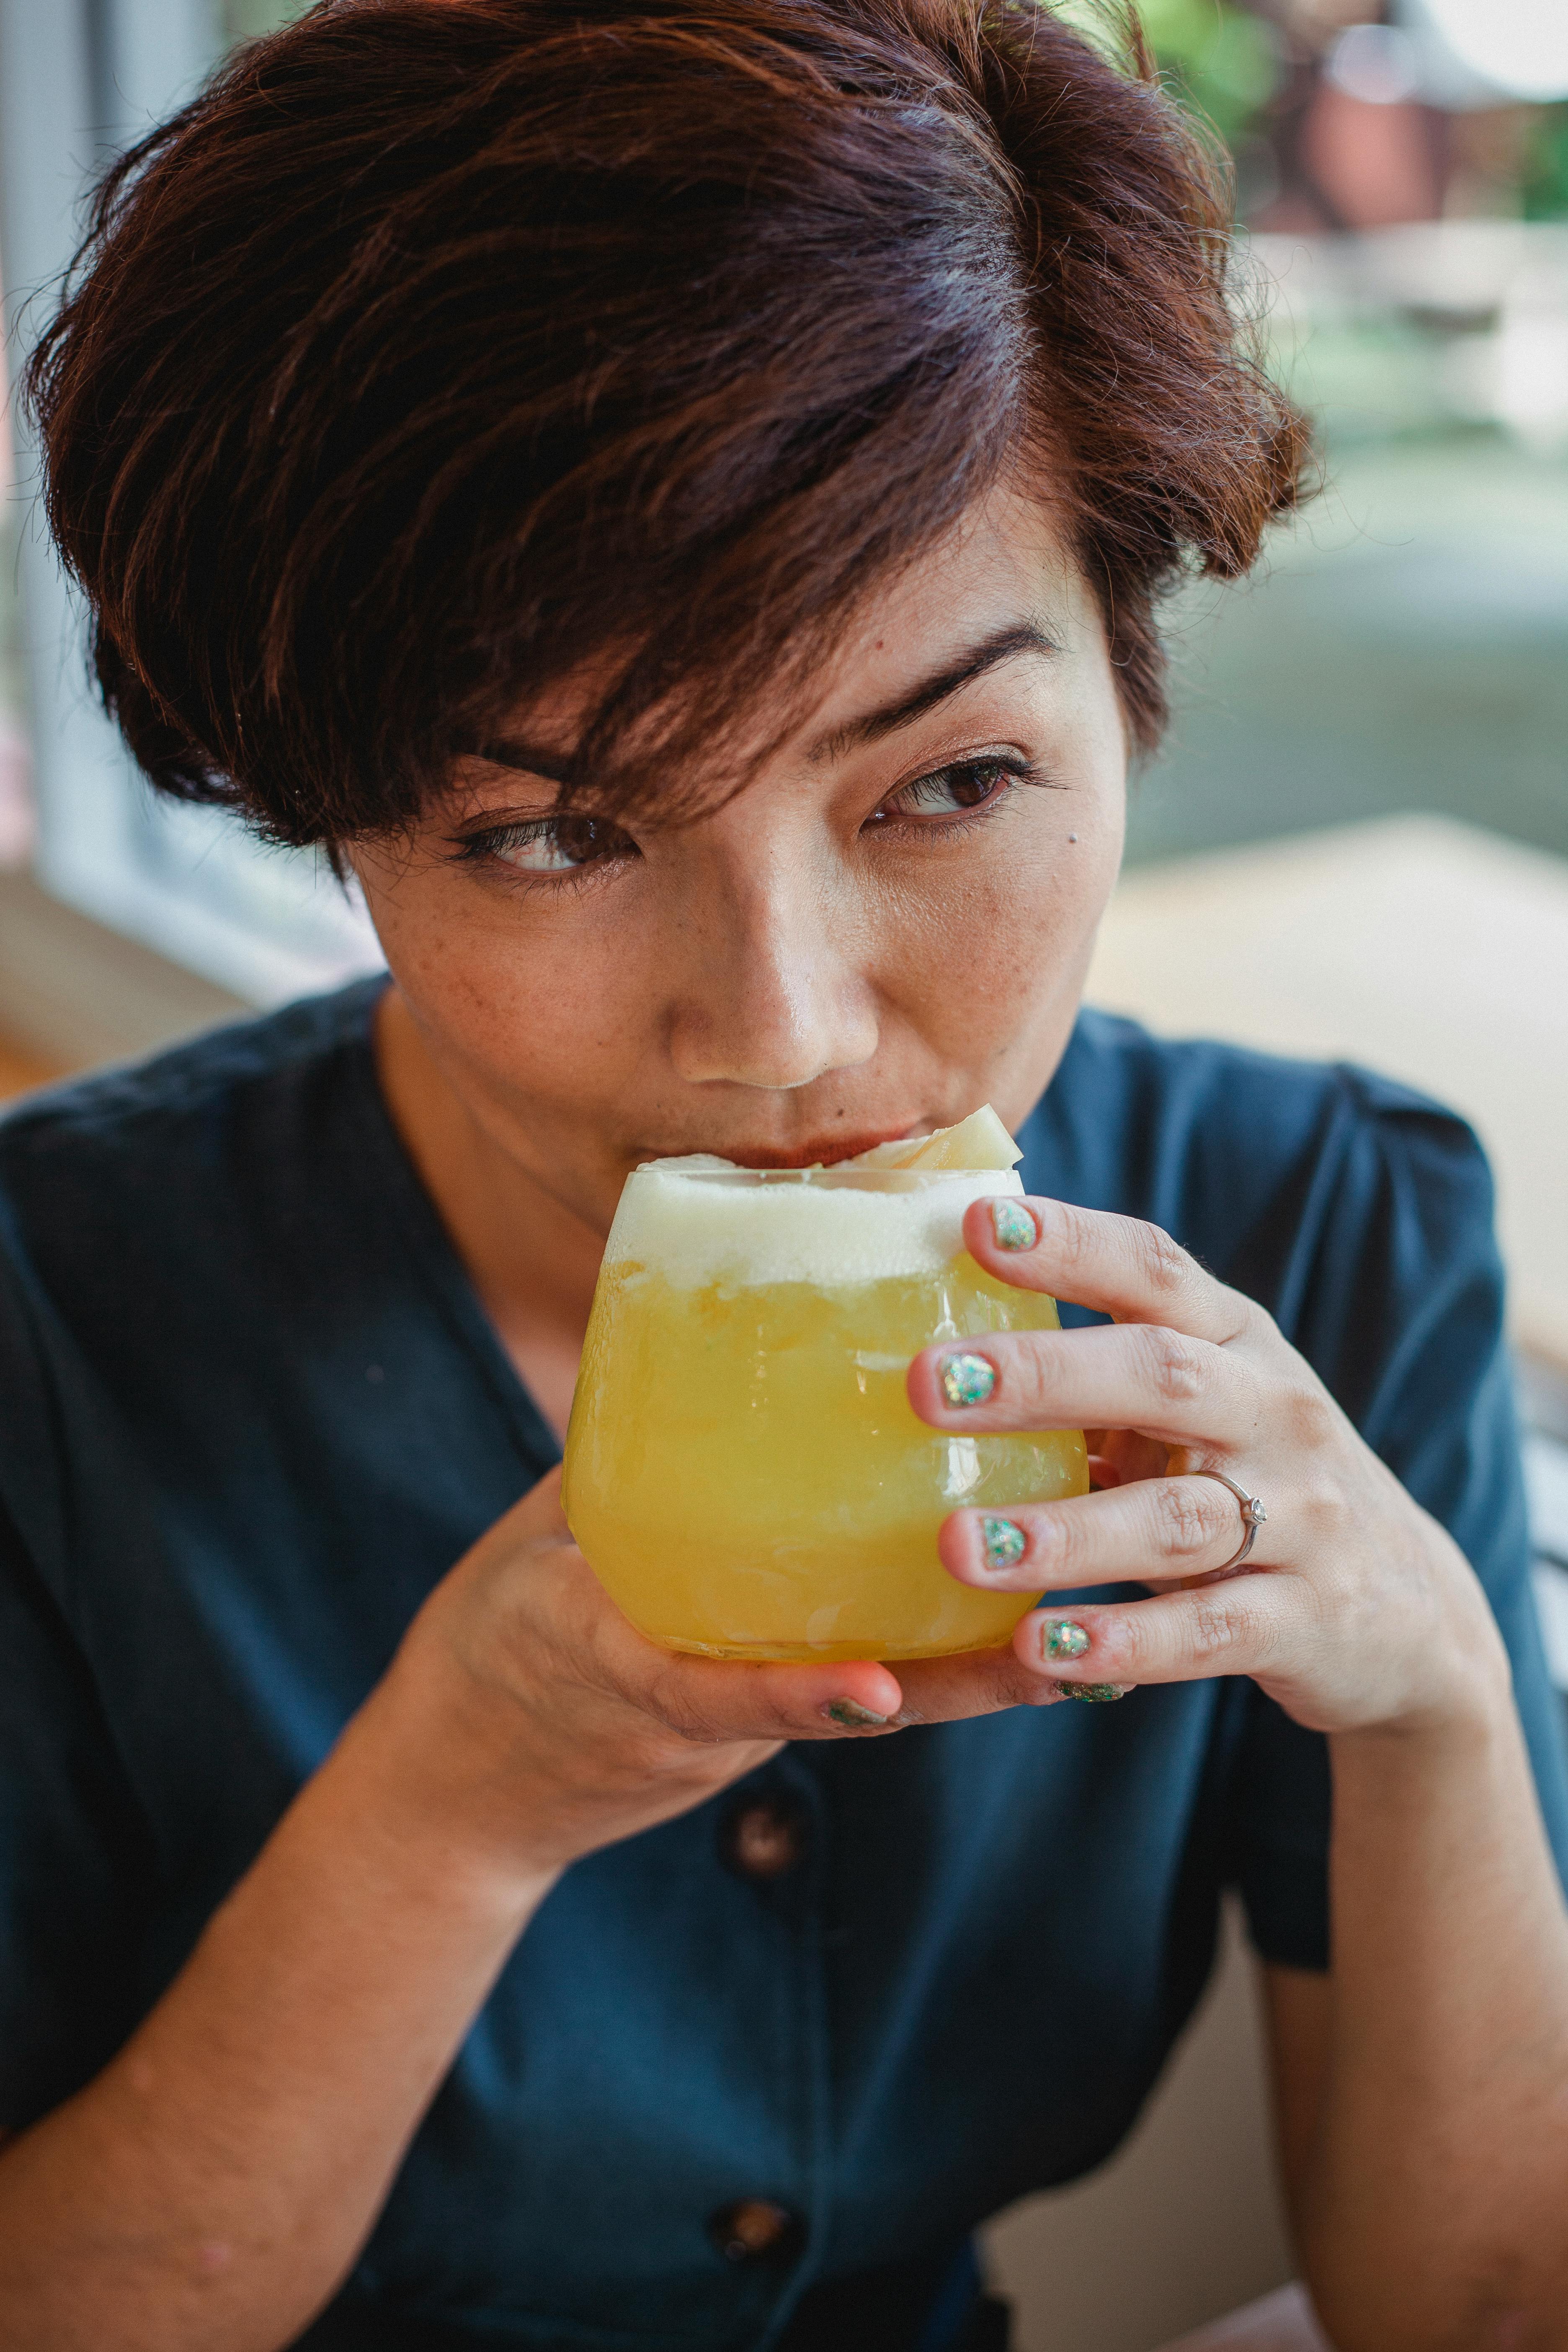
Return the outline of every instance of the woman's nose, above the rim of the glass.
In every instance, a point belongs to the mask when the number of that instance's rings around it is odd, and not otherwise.
[[[877,1000],[856,924],[816,882],[792,861],[705,875],[670,1007],[679,1077],[783,1091],[872,1058]]]

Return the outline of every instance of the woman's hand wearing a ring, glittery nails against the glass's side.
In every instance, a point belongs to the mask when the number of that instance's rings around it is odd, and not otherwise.
[[[1441,1722],[1488,1686],[1507,1691],[1502,1639],[1462,1552],[1260,1305],[1154,1225],[1037,1197],[1009,1200],[1018,1207],[1034,1244],[999,1247],[992,1204],[976,1202],[971,1256],[999,1282],[1110,1312],[1112,1327],[947,1341],[910,1367],[910,1402],[933,1428],[1088,1430],[1098,1491],[943,1524],[940,1555],[961,1583],[1046,1590],[1013,1637],[1013,1703],[1251,1675],[1300,1724],[1354,1731]],[[950,1402],[943,1367],[957,1355],[990,1367],[980,1402]],[[950,1385],[983,1390],[985,1374]],[[1241,1505],[1201,1470],[1222,1470],[1267,1510],[1232,1573]],[[1016,1559],[1009,1526],[1025,1545]],[[1110,1583],[1152,1592],[1048,1606],[1053,1590]],[[961,1661],[945,1665],[924,1670],[931,1712],[957,1696],[940,1686]],[[919,1710],[922,1672],[900,1668],[900,1679]]]

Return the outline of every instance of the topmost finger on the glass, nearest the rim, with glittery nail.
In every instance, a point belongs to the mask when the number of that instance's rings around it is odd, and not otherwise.
[[[1034,1228],[1034,1240],[1027,1228]],[[1048,1291],[1117,1322],[1173,1324],[1225,1345],[1260,1315],[1251,1298],[1204,1272],[1159,1225],[1070,1202],[999,1195],[964,1214],[971,1258],[1023,1291]]]

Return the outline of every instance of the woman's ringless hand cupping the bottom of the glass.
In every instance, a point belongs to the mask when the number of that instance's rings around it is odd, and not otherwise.
[[[524,1877],[689,1811],[785,1740],[896,1726],[886,1665],[658,1649],[571,1541],[552,1470],[423,1604],[371,1700],[400,1715],[404,1799]],[[860,1715],[856,1715],[860,1710]]]

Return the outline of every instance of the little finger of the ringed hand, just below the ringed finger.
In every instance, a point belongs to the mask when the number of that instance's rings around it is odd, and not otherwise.
[[[1013,1649],[1053,1684],[1119,1686],[1276,1675],[1312,1637],[1312,1595],[1300,1576],[1229,1576],[1197,1592],[1147,1602],[1032,1609]]]

